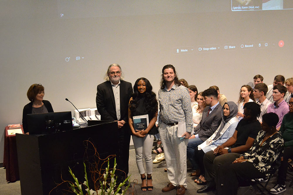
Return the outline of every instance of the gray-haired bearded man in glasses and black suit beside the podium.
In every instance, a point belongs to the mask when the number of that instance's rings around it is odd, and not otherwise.
[[[106,81],[97,87],[97,109],[101,120],[112,120],[118,123],[118,154],[116,158],[118,168],[123,171],[118,173],[121,176],[119,180],[123,181],[128,175],[130,144],[128,102],[133,90],[131,83],[123,80],[119,64],[111,64],[104,79]]]

